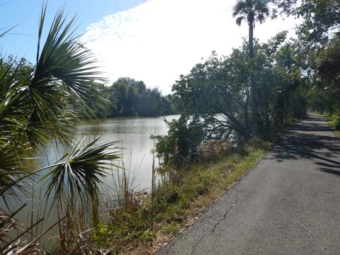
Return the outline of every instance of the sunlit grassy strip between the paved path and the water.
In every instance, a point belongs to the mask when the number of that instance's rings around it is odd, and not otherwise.
[[[135,210],[112,210],[94,229],[94,243],[112,254],[152,254],[195,222],[204,208],[222,196],[268,150],[268,142],[250,142],[211,162],[167,169],[154,194],[140,198]]]

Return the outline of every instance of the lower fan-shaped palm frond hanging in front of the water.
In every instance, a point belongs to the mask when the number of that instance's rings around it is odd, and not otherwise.
[[[82,147],[85,138],[74,146],[69,154],[64,155],[64,162],[48,172],[41,180],[48,183],[47,197],[54,194],[53,203],[57,198],[74,202],[80,198],[80,203],[93,201],[98,194],[98,188],[103,183],[106,170],[112,162],[120,158],[118,141],[108,142],[94,147],[99,138]]]

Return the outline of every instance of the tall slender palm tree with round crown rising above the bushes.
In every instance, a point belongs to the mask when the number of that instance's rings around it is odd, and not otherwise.
[[[246,21],[249,26],[249,58],[254,58],[254,28],[255,22],[260,24],[266,21],[266,17],[269,16],[269,7],[267,0],[237,0],[234,5],[234,12],[232,16],[236,19],[238,26],[241,26],[242,21]],[[253,77],[251,79],[251,115],[252,125],[254,125],[254,131],[258,132],[259,125],[259,113],[256,99],[256,88]]]

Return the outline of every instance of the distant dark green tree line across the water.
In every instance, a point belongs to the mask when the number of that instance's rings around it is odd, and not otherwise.
[[[13,78],[17,78],[30,74],[34,66],[24,57],[8,55],[0,61],[0,68],[16,70],[16,77]],[[95,87],[98,94],[86,98],[81,106],[72,107],[74,110],[77,108],[80,118],[147,117],[178,112],[174,106],[174,96],[164,96],[159,88],[148,88],[144,81],[121,77],[109,85],[92,79],[87,85]]]

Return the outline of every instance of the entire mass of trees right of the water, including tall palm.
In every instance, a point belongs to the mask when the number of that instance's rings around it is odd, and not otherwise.
[[[157,152],[165,162],[179,161],[179,154],[190,158],[209,139],[271,137],[285,120],[303,118],[308,107],[329,113],[334,127],[339,126],[339,1],[271,2],[272,18],[278,13],[302,18],[297,38],[287,40],[283,32],[257,43],[254,23],[269,15],[268,1],[237,1],[233,16],[237,25],[248,23],[249,40],[227,57],[214,52],[174,84],[181,119],[169,123],[169,134],[159,138]],[[191,126],[200,127],[199,138],[192,140]]]

